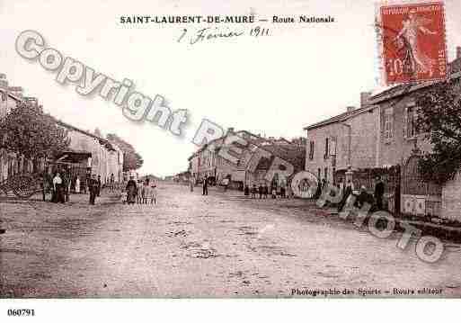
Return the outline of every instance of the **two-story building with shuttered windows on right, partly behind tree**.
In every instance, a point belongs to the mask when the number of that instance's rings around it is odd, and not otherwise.
[[[461,77],[461,48],[457,48],[449,71],[450,78]],[[353,174],[360,169],[402,166],[402,183],[398,184],[401,211],[459,218],[461,179],[440,187],[422,183],[417,171],[418,154],[430,152],[431,145],[416,130],[415,97],[434,84],[396,85],[374,95],[362,93],[358,109],[347,108],[340,115],[307,126],[306,170],[332,183],[338,170],[350,169]]]

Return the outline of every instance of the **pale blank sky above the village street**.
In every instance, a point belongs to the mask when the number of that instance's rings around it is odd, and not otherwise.
[[[178,42],[184,25],[122,24],[120,15],[332,16],[329,24],[270,23],[270,36]],[[461,2],[446,1],[449,60],[461,46]],[[0,73],[36,96],[49,112],[84,130],[117,133],[144,158],[140,173],[172,175],[187,169],[191,141],[208,119],[223,129],[291,139],[304,127],[359,106],[359,94],[379,86],[375,2],[369,0],[180,1],[0,0]],[[197,31],[198,25],[187,26]],[[223,25],[221,31],[250,30]],[[48,47],[96,72],[133,81],[135,90],[163,95],[172,110],[187,109],[182,137],[150,122],[129,121],[100,96],[59,85],[56,74],[14,49],[25,30],[39,31]]]

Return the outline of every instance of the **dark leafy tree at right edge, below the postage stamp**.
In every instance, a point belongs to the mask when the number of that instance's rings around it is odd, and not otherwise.
[[[425,133],[433,148],[418,165],[425,182],[444,184],[461,170],[460,93],[459,80],[450,80],[432,85],[416,98],[416,128]]]

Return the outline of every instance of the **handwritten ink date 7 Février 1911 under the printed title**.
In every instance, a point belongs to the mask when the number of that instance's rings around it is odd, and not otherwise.
[[[254,27],[249,31],[220,31],[217,28],[202,28],[198,31],[189,31],[184,28],[177,41],[189,42],[191,45],[194,45],[199,42],[233,39],[244,35],[256,38],[269,36],[270,33],[268,28],[261,28],[260,26]]]

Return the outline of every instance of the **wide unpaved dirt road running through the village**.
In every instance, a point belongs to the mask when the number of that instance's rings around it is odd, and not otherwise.
[[[160,184],[157,205],[86,198],[0,202],[3,298],[461,296],[459,247],[426,264],[414,246],[402,251],[312,202],[173,184]]]

